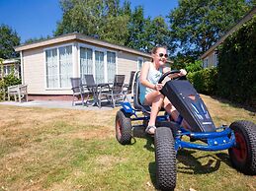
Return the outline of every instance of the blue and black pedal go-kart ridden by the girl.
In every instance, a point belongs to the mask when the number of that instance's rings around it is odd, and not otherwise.
[[[162,83],[170,74],[165,73],[159,80]],[[146,127],[150,107],[139,102],[139,72],[134,75],[133,107],[123,102],[116,115],[116,138],[122,145],[131,143],[134,134],[133,121],[143,121]],[[240,120],[215,127],[213,119],[194,87],[187,80],[167,81],[160,91],[168,97],[179,111],[178,120],[174,121],[166,112],[156,118],[154,135],[156,185],[160,190],[173,190],[176,186],[176,154],[181,148],[202,151],[221,151],[228,149],[232,165],[245,174],[256,174],[256,125]],[[138,113],[142,113],[139,116]],[[182,126],[185,119],[190,128]],[[184,141],[189,137],[190,141]],[[194,143],[197,141],[197,143]]]

